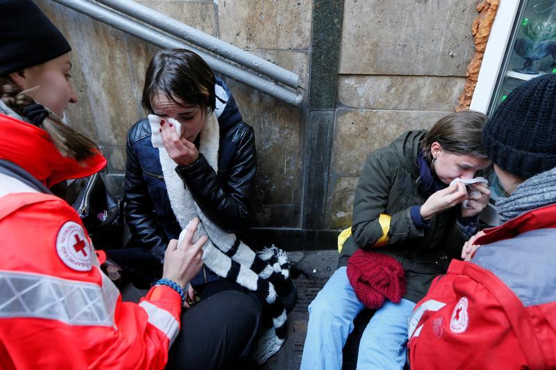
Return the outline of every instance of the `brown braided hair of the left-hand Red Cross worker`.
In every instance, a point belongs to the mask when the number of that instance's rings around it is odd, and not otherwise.
[[[35,103],[8,77],[0,77],[0,99],[18,115],[25,117],[23,110]],[[40,124],[50,135],[52,142],[65,157],[81,161],[97,153],[97,145],[70,126],[63,124],[54,113],[50,113]]]

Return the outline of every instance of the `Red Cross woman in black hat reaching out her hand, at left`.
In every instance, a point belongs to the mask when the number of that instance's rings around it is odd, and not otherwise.
[[[70,45],[30,0],[0,0],[0,34],[1,367],[162,369],[206,238],[192,242],[194,221],[163,278],[122,303],[81,219],[49,190],[106,165],[60,121],[77,102]]]

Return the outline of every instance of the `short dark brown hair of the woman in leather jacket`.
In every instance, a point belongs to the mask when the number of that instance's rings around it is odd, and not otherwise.
[[[215,76],[204,60],[186,49],[159,50],[149,63],[141,103],[153,113],[156,94],[168,99],[200,106],[207,114],[215,109]]]

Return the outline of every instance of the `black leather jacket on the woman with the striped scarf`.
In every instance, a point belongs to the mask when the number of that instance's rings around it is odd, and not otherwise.
[[[218,117],[220,149],[218,174],[202,154],[176,171],[205,215],[228,233],[249,228],[254,195],[256,151],[254,131],[243,122],[233,96]],[[125,215],[130,244],[162,258],[169,239],[181,232],[172,208],[158,149],[151,143],[149,121],[142,119],[128,132],[125,179]],[[129,244],[129,245],[130,245]]]

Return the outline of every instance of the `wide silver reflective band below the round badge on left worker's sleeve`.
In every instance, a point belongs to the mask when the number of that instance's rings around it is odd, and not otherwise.
[[[95,283],[0,271],[0,318],[57,320],[76,326],[114,326],[119,292],[102,274]],[[108,281],[107,281],[108,280]]]

